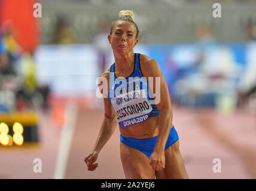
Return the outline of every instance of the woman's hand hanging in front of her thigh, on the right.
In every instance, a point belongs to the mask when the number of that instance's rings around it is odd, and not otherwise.
[[[163,170],[165,167],[164,150],[154,150],[150,157],[150,166],[156,171]]]

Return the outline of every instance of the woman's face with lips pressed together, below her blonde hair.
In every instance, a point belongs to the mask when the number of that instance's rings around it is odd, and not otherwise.
[[[112,50],[129,54],[138,43],[136,26],[129,21],[118,20],[112,27],[112,34],[108,35]]]

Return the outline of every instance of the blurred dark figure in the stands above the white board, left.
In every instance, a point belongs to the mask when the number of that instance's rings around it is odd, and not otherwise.
[[[76,34],[65,16],[57,18],[56,29],[53,34],[54,44],[73,44],[76,41]]]

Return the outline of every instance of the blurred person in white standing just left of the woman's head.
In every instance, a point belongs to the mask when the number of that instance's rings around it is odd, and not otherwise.
[[[100,22],[99,30],[93,37],[93,47],[97,52],[97,64],[100,73],[105,72],[106,58],[109,56],[109,51],[111,51],[108,35],[108,24],[105,21]]]

